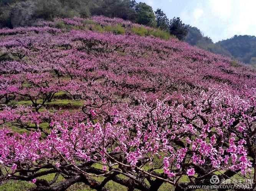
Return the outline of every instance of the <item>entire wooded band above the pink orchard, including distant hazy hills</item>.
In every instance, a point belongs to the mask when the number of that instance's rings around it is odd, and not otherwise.
[[[202,49],[229,56],[255,65],[255,37],[234,36],[213,43],[193,26],[185,25],[180,18],[168,19],[157,9],[135,0],[0,0],[0,27],[31,26],[33,23],[54,18],[87,18],[94,15],[118,17],[144,24],[175,35],[178,39]]]

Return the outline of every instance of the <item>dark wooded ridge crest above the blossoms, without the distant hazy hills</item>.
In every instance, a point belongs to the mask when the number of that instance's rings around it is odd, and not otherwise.
[[[154,12],[151,6],[135,0],[0,0],[0,5],[0,27],[31,26],[54,18],[103,15],[159,28],[178,39],[187,35],[187,28],[180,18],[169,20],[163,11]]]

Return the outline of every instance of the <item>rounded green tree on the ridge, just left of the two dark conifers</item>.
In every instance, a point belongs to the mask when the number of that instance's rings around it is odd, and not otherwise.
[[[150,27],[156,26],[155,14],[151,6],[140,2],[136,5],[135,11],[137,12],[137,23]]]

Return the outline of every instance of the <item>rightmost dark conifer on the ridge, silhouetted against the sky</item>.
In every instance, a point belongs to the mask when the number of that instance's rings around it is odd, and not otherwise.
[[[187,26],[182,23],[179,17],[170,20],[170,33],[176,36],[179,40],[184,40],[188,34]]]

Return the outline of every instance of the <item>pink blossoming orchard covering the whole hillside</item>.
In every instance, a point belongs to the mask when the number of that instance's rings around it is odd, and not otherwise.
[[[173,38],[49,23],[0,31],[0,184],[185,190],[213,174],[255,180],[253,68]]]

